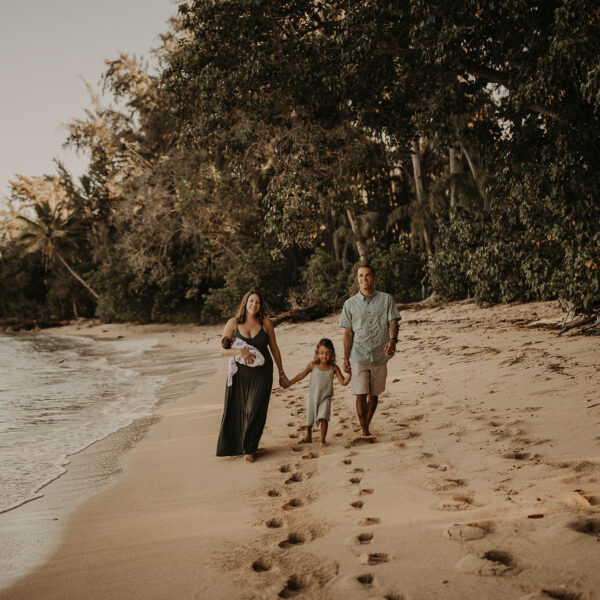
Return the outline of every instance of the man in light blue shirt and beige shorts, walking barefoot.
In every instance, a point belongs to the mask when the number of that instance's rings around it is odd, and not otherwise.
[[[400,314],[394,299],[375,290],[371,266],[358,269],[359,292],[344,302],[340,327],[344,328],[344,371],[352,373],[352,393],[363,435],[385,390],[387,361],[396,353]]]

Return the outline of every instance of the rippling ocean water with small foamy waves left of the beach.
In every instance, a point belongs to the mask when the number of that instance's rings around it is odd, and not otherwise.
[[[0,512],[39,496],[70,455],[149,415],[167,377],[198,364],[198,353],[169,358],[155,343],[0,334]]]

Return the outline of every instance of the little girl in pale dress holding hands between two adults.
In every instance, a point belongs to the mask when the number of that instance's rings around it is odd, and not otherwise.
[[[326,446],[327,426],[333,396],[333,377],[342,385],[348,385],[352,375],[344,377],[335,364],[335,349],[328,338],[319,340],[314,358],[306,368],[290,380],[290,385],[304,379],[310,373],[310,386],[306,402],[306,437],[304,443],[312,442],[312,428],[321,423],[321,446]]]

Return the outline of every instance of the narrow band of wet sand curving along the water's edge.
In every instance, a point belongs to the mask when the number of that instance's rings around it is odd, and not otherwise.
[[[58,329],[25,333],[84,338],[93,343],[114,343],[125,339],[119,334],[113,335],[110,326],[97,323],[90,325],[81,321],[75,325],[63,325]],[[110,335],[105,335],[106,333]],[[152,332],[139,332],[137,335],[128,336],[128,340],[151,340],[154,337]],[[161,348],[158,341],[143,352],[152,352],[159,356],[162,354],[167,363],[174,361],[175,365],[183,365],[186,362],[186,350],[181,348],[178,351],[164,344]],[[178,353],[180,357],[177,356]],[[112,348],[107,356],[111,360],[118,359],[118,350]],[[204,365],[210,367],[211,363],[212,361],[206,361]],[[200,373],[199,379],[194,383],[195,388],[204,385],[203,375],[204,379],[208,378],[211,375],[210,368]],[[155,391],[155,402],[149,414],[132,418],[130,423],[86,443],[75,452],[64,455],[61,459],[62,472],[41,483],[32,491],[31,498],[0,511],[0,533],[4,541],[4,550],[0,551],[0,564],[3,566],[0,569],[0,591],[9,588],[19,578],[42,565],[60,543],[63,523],[68,522],[70,515],[89,498],[109,488],[122,475],[122,464],[127,454],[160,420],[158,411],[161,406],[179,395],[182,379],[186,379],[185,372],[166,375]],[[40,493],[42,490],[43,493]],[[53,516],[49,517],[49,513]]]

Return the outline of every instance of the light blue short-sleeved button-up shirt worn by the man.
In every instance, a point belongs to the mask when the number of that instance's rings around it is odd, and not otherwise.
[[[390,321],[400,319],[394,299],[385,292],[374,291],[370,296],[360,292],[344,302],[340,327],[352,329],[354,339],[350,360],[379,365],[391,356],[385,355],[390,339]]]

